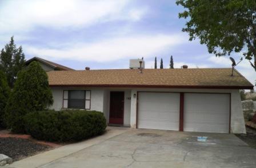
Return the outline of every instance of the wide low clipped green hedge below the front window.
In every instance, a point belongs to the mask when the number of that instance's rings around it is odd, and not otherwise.
[[[80,141],[102,134],[106,119],[99,111],[37,111],[25,116],[26,131],[45,141]]]

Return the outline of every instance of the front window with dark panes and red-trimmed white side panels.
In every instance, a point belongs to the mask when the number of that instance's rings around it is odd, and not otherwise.
[[[63,109],[91,109],[90,90],[63,90]]]

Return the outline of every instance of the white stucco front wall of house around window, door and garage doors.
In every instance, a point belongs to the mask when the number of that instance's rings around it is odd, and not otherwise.
[[[136,127],[137,91],[170,91],[195,93],[231,93],[231,133],[246,133],[241,99],[238,90],[226,89],[127,89],[127,88],[88,88],[88,87],[52,87],[54,104],[51,109],[62,109],[63,90],[91,90],[91,110],[102,111],[109,120],[110,91],[125,91],[124,125]],[[134,97],[134,94],[136,95]],[[128,99],[128,98],[131,99]]]

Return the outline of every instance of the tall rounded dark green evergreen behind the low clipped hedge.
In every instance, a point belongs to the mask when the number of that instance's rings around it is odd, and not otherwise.
[[[53,104],[48,77],[38,62],[18,73],[6,106],[6,123],[14,133],[25,133],[25,114],[45,110]]]

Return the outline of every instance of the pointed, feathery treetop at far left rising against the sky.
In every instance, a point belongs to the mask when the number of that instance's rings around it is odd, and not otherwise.
[[[5,45],[5,48],[0,53],[0,70],[2,70],[7,77],[7,82],[11,88],[14,86],[15,78],[18,72],[25,64],[25,55],[22,47],[16,47],[14,37]]]

